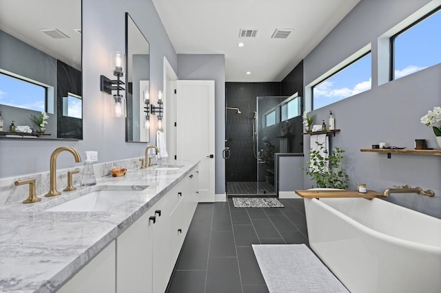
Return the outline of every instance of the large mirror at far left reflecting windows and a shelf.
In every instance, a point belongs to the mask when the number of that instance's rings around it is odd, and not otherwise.
[[[81,30],[81,0],[0,0],[0,138],[83,139]]]

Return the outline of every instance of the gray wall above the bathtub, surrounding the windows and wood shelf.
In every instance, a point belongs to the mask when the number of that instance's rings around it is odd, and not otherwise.
[[[362,0],[304,60],[304,80],[308,85],[340,61],[372,44],[372,88],[333,105],[314,111],[317,120],[328,118],[332,110],[336,128],[341,129],[331,143],[345,149],[349,188],[366,182],[368,189],[382,192],[393,185],[411,184],[433,189],[435,197],[393,194],[387,200],[422,213],[441,217],[441,161],[438,156],[361,153],[371,144],[388,142],[414,148],[414,140],[424,138],[438,148],[433,131],[420,123],[427,110],[440,105],[441,65],[378,86],[377,38],[428,3],[428,0]],[[305,135],[305,150],[309,135]],[[309,155],[305,152],[305,162]],[[305,176],[305,186],[310,186]]]

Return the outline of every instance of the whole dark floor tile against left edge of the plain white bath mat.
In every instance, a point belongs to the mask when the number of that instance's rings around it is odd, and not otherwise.
[[[242,285],[265,285],[253,248],[238,247],[237,257]]]

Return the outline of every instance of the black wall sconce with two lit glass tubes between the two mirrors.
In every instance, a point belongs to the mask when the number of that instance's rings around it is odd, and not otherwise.
[[[119,91],[123,91],[123,81],[120,79],[124,76],[124,56],[121,52],[112,52],[112,72],[116,76],[116,80],[110,80],[103,75],[100,76],[100,89],[107,94],[112,94],[112,91],[116,90],[116,94],[113,95],[112,102],[112,116],[117,118],[125,118],[127,111],[125,109],[125,97],[119,94]]]

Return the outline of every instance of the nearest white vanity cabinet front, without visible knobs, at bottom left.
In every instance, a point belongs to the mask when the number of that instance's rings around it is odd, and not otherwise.
[[[115,241],[63,285],[59,293],[115,292]]]

